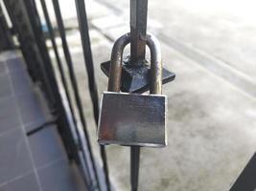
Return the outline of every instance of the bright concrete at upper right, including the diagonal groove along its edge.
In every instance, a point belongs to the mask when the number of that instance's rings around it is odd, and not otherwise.
[[[129,1],[98,1],[125,15],[128,23],[129,11],[125,8]],[[251,0],[181,0],[167,1],[164,6],[150,1],[149,31],[198,64],[256,96],[254,6]]]

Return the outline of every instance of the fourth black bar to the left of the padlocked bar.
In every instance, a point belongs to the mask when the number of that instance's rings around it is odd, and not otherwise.
[[[77,143],[74,141],[74,139],[72,139],[70,124],[67,119],[67,114],[63,107],[63,103],[61,101],[61,96],[58,92],[58,84],[51,63],[51,59],[48,53],[48,49],[46,47],[45,38],[41,29],[40,17],[35,6],[35,0],[28,0],[24,2],[24,5],[29,16],[31,27],[35,35],[35,42],[37,44],[39,54],[41,55],[40,61],[44,66],[42,68],[42,73],[44,74],[44,78],[47,78],[47,82],[49,83],[50,81],[51,93],[55,100],[52,112],[54,115],[59,116],[58,132],[64,140],[63,142],[67,149],[69,159],[75,159],[79,161],[79,154],[77,153]]]

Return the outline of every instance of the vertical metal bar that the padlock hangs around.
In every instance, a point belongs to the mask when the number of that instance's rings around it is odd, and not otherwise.
[[[130,0],[130,64],[142,65],[147,43],[148,0]],[[138,190],[140,147],[130,147],[131,190]]]

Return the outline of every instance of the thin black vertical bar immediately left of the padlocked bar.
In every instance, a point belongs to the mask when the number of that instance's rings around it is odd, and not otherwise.
[[[83,53],[83,58],[85,61],[86,71],[88,75],[90,96],[93,103],[94,119],[96,124],[98,125],[99,97],[97,92],[97,84],[95,82],[95,76],[94,76],[93,58],[91,53],[91,44],[90,44],[89,29],[88,29],[88,23],[87,23],[87,15],[85,10],[85,3],[84,3],[84,0],[75,0],[75,2],[76,2],[77,16],[79,20],[79,27],[80,27],[80,33],[81,33],[82,53]],[[101,157],[103,160],[103,166],[104,166],[104,172],[105,172],[105,184],[106,184],[107,190],[110,190],[105,146],[101,145],[100,149],[101,149]]]

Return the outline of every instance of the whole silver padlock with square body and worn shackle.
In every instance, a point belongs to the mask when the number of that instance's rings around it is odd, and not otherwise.
[[[100,144],[163,147],[167,145],[167,96],[162,94],[162,60],[158,40],[147,35],[151,50],[150,95],[121,93],[121,73],[124,48],[130,42],[129,33],[121,36],[111,53],[108,92],[101,101],[98,127]]]

